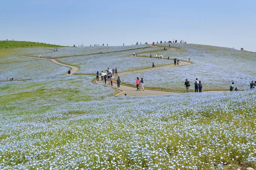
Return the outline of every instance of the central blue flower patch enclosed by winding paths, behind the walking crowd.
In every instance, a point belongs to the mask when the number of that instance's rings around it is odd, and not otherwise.
[[[148,48],[149,50],[152,48]],[[116,52],[113,54],[95,54],[90,56],[66,57],[59,59],[64,63],[73,63],[80,67],[78,74],[95,74],[97,71],[106,71],[107,68],[117,67],[118,72],[131,71],[142,68],[152,67],[152,62],[156,66],[171,64],[172,61],[143,58],[143,57],[128,57],[132,55],[131,51]]]

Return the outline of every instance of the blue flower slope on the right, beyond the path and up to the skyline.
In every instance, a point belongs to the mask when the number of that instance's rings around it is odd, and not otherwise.
[[[162,45],[169,46],[169,43]],[[182,67],[126,74],[122,77],[123,82],[134,84],[134,79],[131,77],[143,77],[145,87],[185,91],[184,82],[185,79],[189,79],[192,85],[190,90],[193,91],[195,78],[198,78],[203,83],[203,91],[227,91],[232,82],[240,90],[245,90],[250,88],[249,82],[256,80],[256,53],[207,45],[180,43],[171,45],[180,49],[165,51],[162,53],[164,56],[169,54],[170,59],[177,58],[185,61],[191,57],[193,63]]]

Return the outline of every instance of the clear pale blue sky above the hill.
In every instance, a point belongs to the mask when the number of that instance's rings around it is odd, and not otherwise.
[[[256,51],[255,0],[5,0],[0,40],[58,45],[185,40]]]

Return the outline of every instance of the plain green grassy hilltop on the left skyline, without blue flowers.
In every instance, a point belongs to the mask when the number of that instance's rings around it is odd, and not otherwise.
[[[20,47],[64,47],[61,45],[46,44],[41,42],[29,42],[29,41],[0,41],[1,48],[20,48]]]

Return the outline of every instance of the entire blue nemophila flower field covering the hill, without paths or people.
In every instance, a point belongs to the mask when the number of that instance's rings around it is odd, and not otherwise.
[[[144,77],[145,87],[183,91],[185,78],[193,89],[192,79],[198,77],[204,91],[227,90],[231,81],[246,89],[255,78],[255,53],[172,45],[179,49],[161,54],[182,60],[191,57],[193,63],[126,74],[122,82],[134,83],[139,76]],[[122,72],[151,67],[152,62],[172,62],[128,57],[133,52],[155,55],[156,48],[143,45],[108,47],[110,53],[96,54],[103,48],[58,48],[56,55],[63,57],[60,62],[79,65],[78,73],[86,74],[107,67]],[[42,52],[50,56],[49,48],[4,51],[0,55],[0,169],[256,168],[255,90],[113,97],[112,88],[93,84],[95,76],[69,76],[67,67],[47,59],[17,57],[37,53],[43,57]],[[5,81],[11,76],[26,80]]]

